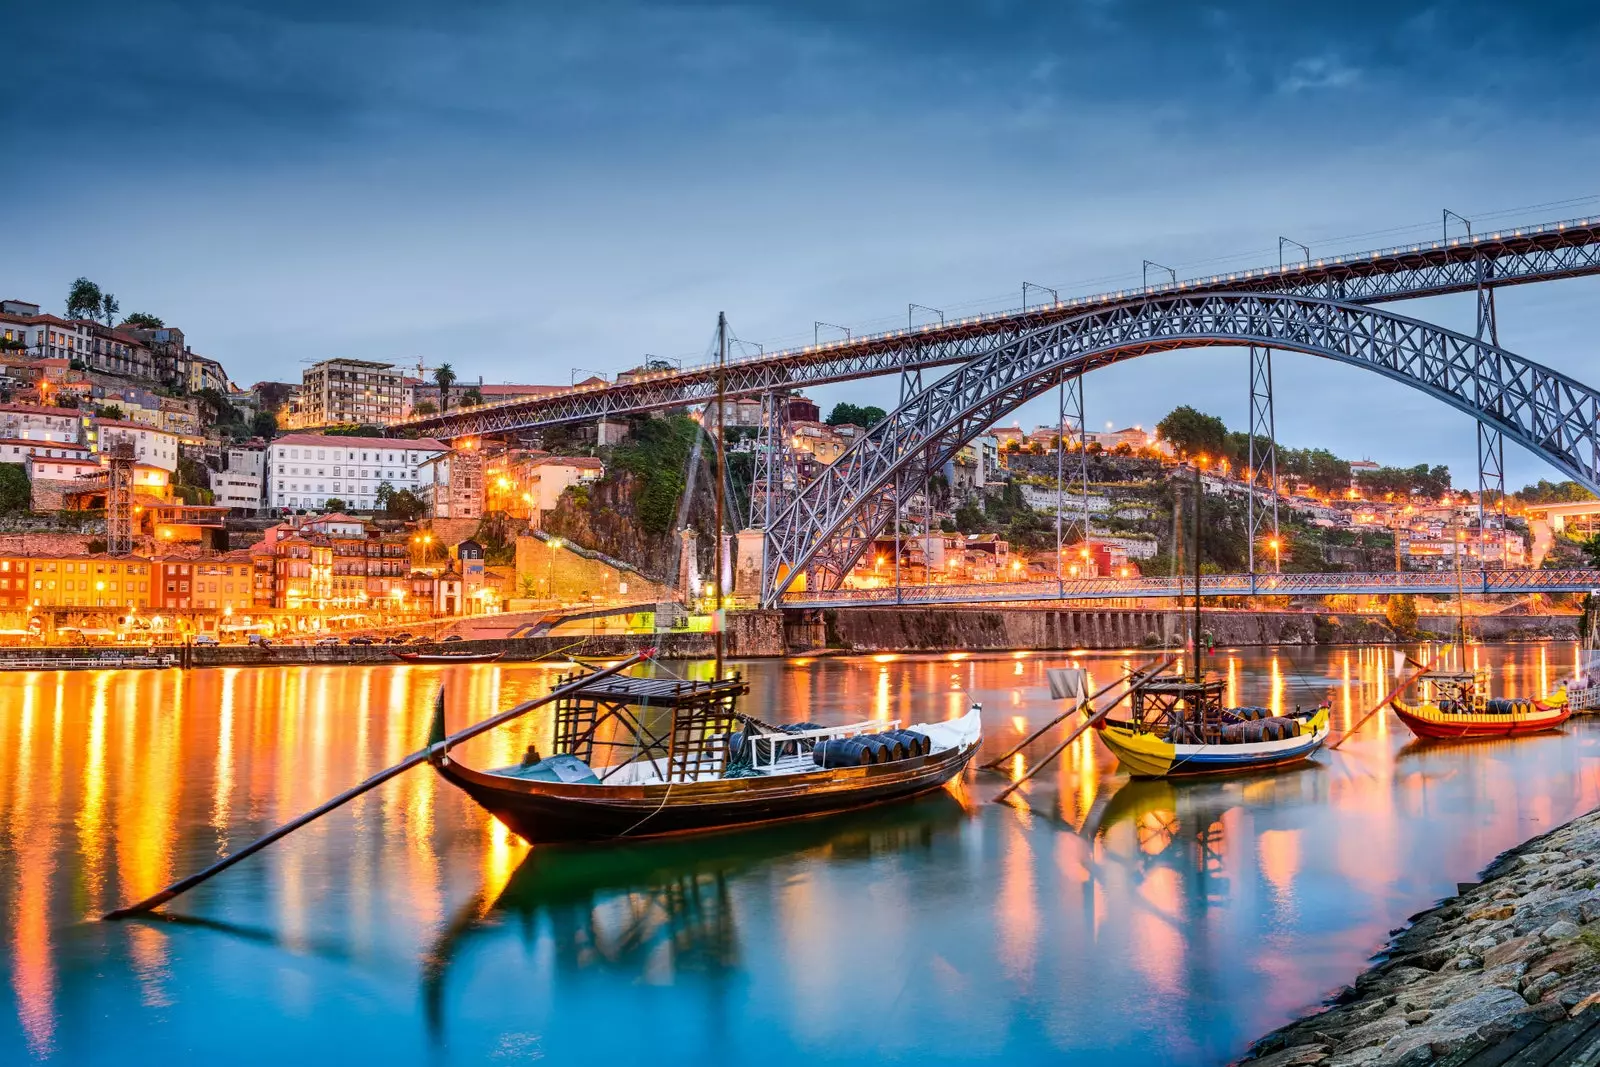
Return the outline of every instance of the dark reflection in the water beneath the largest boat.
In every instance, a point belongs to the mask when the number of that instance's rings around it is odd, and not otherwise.
[[[470,901],[426,957],[430,1030],[446,1027],[446,984],[482,934],[514,926],[525,949],[549,937],[554,974],[621,981],[718,974],[741,965],[733,885],[774,861],[869,864],[931,853],[966,821],[955,793],[722,833],[528,851],[493,901]]]

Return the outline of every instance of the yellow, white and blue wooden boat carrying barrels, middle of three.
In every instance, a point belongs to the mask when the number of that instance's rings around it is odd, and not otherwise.
[[[1261,717],[1224,709],[1221,681],[1155,678],[1133,693],[1128,720],[1094,725],[1134,777],[1264,771],[1301,763],[1328,739],[1328,709]]]

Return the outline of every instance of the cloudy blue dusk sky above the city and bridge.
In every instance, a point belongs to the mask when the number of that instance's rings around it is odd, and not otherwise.
[[[0,296],[86,275],[243,386],[330,357],[566,382],[909,302],[1014,306],[1600,211],[1582,3],[6,5]],[[19,251],[26,250],[26,251]],[[1504,347],[1600,381],[1600,278],[1507,290]],[[1472,299],[1395,306],[1472,328]],[[1472,422],[1312,357],[1285,445],[1448,462]],[[893,381],[816,390],[891,406]],[[1086,379],[1086,421],[1246,419],[1237,350]],[[1053,405],[1018,413],[1043,422]],[[1515,446],[1514,485],[1552,472]]]

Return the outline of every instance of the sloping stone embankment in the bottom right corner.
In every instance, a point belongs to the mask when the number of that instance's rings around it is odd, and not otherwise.
[[[1496,859],[1483,881],[1413,917],[1381,961],[1318,1014],[1254,1045],[1248,1067],[1595,1062],[1534,1056],[1534,1037],[1600,1005],[1600,813]],[[1507,1057],[1509,1059],[1509,1057]],[[1523,1059],[1515,1061],[1525,1062]]]

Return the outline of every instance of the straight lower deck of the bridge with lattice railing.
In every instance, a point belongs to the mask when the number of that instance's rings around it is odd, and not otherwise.
[[[1469,593],[1589,592],[1600,571],[1506,569],[1469,571],[1459,587]],[[1454,571],[1374,571],[1334,574],[1202,574],[1202,597],[1331,597],[1341,593],[1451,595]],[[934,582],[784,593],[787,608],[893,603],[1005,603],[1010,600],[1139,600],[1194,593],[1192,577],[1069,577],[1026,582]]]

